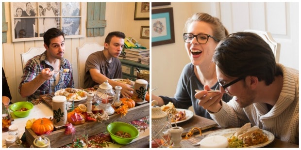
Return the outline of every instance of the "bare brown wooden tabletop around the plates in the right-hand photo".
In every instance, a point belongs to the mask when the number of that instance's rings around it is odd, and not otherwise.
[[[200,146],[194,146],[198,142],[200,142],[206,135],[209,135],[213,132],[218,130],[223,130],[225,128],[220,128],[214,120],[209,120],[207,118],[194,115],[191,119],[186,120],[181,123],[174,124],[173,126],[180,126],[184,129],[182,133],[183,139],[181,140],[182,148],[200,148]],[[201,134],[198,130],[194,129],[193,135],[190,136],[188,139],[185,138],[185,135],[191,130],[192,128],[199,128],[201,129]],[[266,145],[264,148],[299,148],[299,145],[288,143],[281,141],[278,138],[275,138],[271,143]]]

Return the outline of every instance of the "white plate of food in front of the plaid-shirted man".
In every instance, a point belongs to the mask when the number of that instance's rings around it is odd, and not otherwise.
[[[67,98],[67,101],[74,100],[74,102],[77,102],[77,101],[82,101],[82,100],[87,99],[88,96],[86,94],[84,97],[81,96],[81,93],[83,91],[84,90],[81,90],[81,89],[66,88],[66,89],[61,89],[61,90],[56,91],[54,93],[54,96],[62,95]],[[86,91],[84,91],[84,92],[86,92]]]

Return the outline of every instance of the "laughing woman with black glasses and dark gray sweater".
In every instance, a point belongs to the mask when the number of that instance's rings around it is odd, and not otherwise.
[[[172,102],[176,108],[193,106],[196,115],[211,119],[194,95],[195,90],[203,90],[204,85],[209,85],[212,90],[219,89],[212,56],[218,42],[228,35],[228,31],[218,18],[206,13],[196,13],[188,18],[184,30],[185,47],[191,62],[182,71],[174,98],[152,94],[151,99],[158,101],[158,105]],[[219,95],[218,98],[225,102],[231,99],[220,92],[210,94]]]

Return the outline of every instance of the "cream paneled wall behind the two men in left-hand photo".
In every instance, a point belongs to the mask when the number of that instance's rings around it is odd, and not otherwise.
[[[2,67],[5,75],[8,77],[8,85],[12,94],[12,101],[25,101],[18,93],[18,86],[21,82],[22,67],[21,67],[21,53],[25,53],[30,47],[43,46],[41,41],[27,41],[27,42],[12,42],[11,41],[11,19],[9,2],[5,2],[6,22],[8,22],[7,43],[2,43]],[[135,2],[106,2],[106,16],[107,27],[105,28],[104,36],[101,37],[84,37],[66,39],[65,42],[65,58],[70,60],[73,68],[74,86],[78,88],[78,70],[77,70],[77,56],[76,47],[80,47],[86,42],[97,42],[103,45],[105,36],[111,31],[123,31],[126,36],[131,36],[136,39],[141,45],[150,48],[149,39],[140,39],[140,27],[149,26],[149,20],[134,20]],[[86,12],[86,2],[82,11]],[[83,15],[86,20],[86,15]]]

